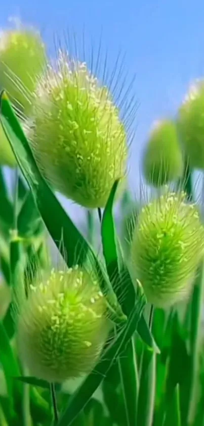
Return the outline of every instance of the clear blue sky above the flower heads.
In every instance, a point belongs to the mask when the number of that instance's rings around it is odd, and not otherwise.
[[[1,2],[0,27],[10,16],[38,27],[51,47],[54,34],[83,27],[97,46],[101,28],[110,62],[121,48],[126,69],[136,73],[134,91],[140,102],[131,149],[130,182],[153,120],[171,116],[191,80],[204,75],[203,0],[9,0]]]

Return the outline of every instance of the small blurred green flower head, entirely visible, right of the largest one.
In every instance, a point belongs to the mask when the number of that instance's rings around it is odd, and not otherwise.
[[[182,152],[176,125],[172,120],[155,123],[144,152],[143,170],[146,181],[156,187],[182,175]]]

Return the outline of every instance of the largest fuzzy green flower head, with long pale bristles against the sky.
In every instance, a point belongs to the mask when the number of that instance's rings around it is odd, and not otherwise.
[[[57,71],[50,68],[39,83],[31,138],[54,189],[82,206],[104,207],[126,173],[126,139],[108,89],[86,63],[61,55]]]

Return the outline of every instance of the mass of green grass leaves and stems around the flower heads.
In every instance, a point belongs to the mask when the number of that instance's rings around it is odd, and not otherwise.
[[[167,309],[153,308],[131,273],[124,226],[134,210],[129,190],[120,204],[121,230],[116,230],[113,209],[117,179],[105,208],[96,211],[97,225],[94,212],[87,210],[86,239],[39,170],[5,91],[0,107],[18,163],[11,172],[16,177],[13,198],[0,169],[0,425],[203,426],[202,258],[188,298]],[[187,179],[184,173],[176,182],[188,200],[195,198],[192,173],[188,168]],[[18,345],[17,307],[39,271],[52,264],[48,234],[66,267],[94,271],[111,323],[92,370],[64,383],[34,377]],[[101,254],[96,241],[101,241]]]

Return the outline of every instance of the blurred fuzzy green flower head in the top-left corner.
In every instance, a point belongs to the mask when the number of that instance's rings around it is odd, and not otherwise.
[[[1,32],[0,84],[26,113],[44,67],[45,46],[36,31],[22,28]]]

